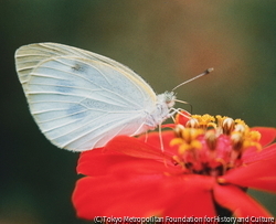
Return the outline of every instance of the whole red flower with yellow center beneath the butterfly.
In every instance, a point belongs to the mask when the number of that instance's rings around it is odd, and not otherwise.
[[[77,172],[86,177],[73,193],[77,215],[213,217],[226,211],[236,217],[272,216],[246,189],[276,192],[276,143],[268,145],[276,130],[216,120],[177,118],[182,126],[162,131],[163,151],[158,132],[151,132],[147,140],[119,136],[83,152]]]

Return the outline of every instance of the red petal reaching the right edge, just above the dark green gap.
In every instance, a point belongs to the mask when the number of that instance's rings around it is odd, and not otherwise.
[[[275,160],[276,154],[269,159],[230,170],[221,179],[223,182],[241,186],[276,192]]]

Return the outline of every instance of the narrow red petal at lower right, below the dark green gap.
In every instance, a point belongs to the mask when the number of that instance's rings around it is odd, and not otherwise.
[[[259,203],[234,185],[215,184],[214,200],[221,206],[232,211],[236,217],[272,217],[269,212],[267,212]]]

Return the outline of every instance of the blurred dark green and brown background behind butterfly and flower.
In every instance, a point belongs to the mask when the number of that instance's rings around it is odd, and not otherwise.
[[[0,0],[0,41],[1,224],[86,223],[71,204],[78,154],[51,145],[29,113],[13,58],[23,44],[57,42],[109,56],[157,93],[214,67],[178,98],[197,114],[276,125],[273,0]],[[276,215],[275,195],[253,194]]]

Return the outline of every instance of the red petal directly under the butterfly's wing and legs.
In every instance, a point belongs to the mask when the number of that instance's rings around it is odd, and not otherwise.
[[[112,147],[115,147],[114,143],[108,143],[109,146],[104,150],[102,148],[83,152],[78,160],[77,172],[85,175],[117,173],[120,177],[131,177],[134,174],[159,174],[163,172],[169,172],[171,174],[183,173],[183,170],[180,167],[172,163],[171,157],[167,158],[162,152],[155,151],[151,148],[148,148],[147,151],[144,146],[145,143],[137,139],[129,137],[124,139],[127,141],[123,141],[124,143],[121,143],[121,138],[118,138],[119,149],[116,151],[112,150]],[[131,145],[128,145],[130,147],[126,148],[124,145],[129,142],[128,140],[131,141]],[[144,148],[136,149],[139,145],[142,145]]]

